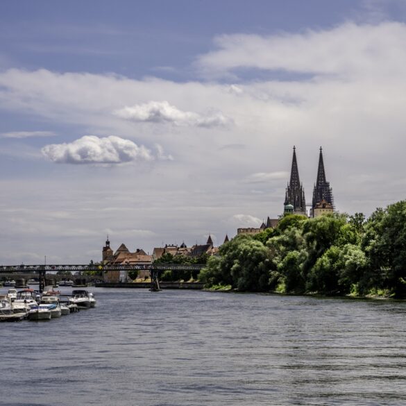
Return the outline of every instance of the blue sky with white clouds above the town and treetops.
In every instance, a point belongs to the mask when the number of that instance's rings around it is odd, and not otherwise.
[[[221,244],[406,192],[406,0],[0,2],[0,264]]]

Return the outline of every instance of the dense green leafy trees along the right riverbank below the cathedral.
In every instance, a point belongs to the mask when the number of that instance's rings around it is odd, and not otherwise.
[[[406,201],[364,214],[291,214],[210,257],[205,287],[292,294],[406,296]]]

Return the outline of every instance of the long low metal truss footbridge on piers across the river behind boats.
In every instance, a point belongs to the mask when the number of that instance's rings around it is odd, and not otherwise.
[[[44,289],[46,273],[74,273],[86,275],[93,273],[103,275],[108,271],[149,271],[152,288],[159,289],[159,278],[164,271],[190,271],[197,274],[205,264],[43,264],[43,265],[0,265],[0,278],[9,278],[10,275],[18,274],[25,278],[38,276],[40,291]]]

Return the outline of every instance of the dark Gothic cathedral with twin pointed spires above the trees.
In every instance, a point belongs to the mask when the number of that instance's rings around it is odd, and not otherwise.
[[[293,158],[291,162],[290,181],[285,193],[285,214],[303,214],[307,216],[305,200],[305,189],[299,178],[298,162],[296,157],[296,147],[294,146]],[[321,214],[332,213],[334,211],[334,199],[332,188],[325,178],[323,150],[320,147],[319,166],[317,168],[316,183],[313,188],[312,205],[310,205],[310,217],[318,217]]]

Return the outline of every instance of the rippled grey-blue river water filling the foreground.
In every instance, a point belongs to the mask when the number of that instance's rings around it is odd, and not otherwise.
[[[1,406],[406,404],[406,303],[89,289],[0,324]]]

